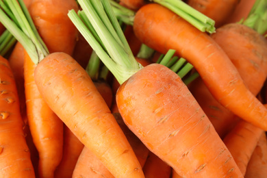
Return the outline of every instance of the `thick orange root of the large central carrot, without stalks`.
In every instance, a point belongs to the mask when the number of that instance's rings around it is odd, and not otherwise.
[[[186,85],[166,66],[150,64],[132,75],[116,102],[129,129],[179,175],[242,177]]]

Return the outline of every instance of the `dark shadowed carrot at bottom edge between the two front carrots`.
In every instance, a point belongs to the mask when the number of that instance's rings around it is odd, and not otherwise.
[[[149,157],[147,157],[143,171],[144,176],[147,178],[169,178],[172,173],[172,168],[155,154],[149,152]]]

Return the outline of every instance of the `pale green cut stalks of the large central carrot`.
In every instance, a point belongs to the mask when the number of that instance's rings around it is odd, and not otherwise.
[[[105,46],[106,50],[101,47],[94,34],[84,25],[74,10],[68,12],[69,18],[71,18],[71,21],[79,29],[105,66],[110,69],[118,82],[123,84],[131,75],[139,71],[142,66],[136,62],[109,1],[78,0],[78,2],[94,27],[94,31],[97,31],[101,44]]]

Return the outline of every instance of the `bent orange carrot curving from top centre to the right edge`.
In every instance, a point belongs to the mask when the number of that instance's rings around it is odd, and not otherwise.
[[[141,42],[156,51],[175,49],[176,55],[196,68],[217,101],[240,118],[267,130],[266,108],[246,88],[225,51],[210,36],[154,3],[138,10],[133,30]]]

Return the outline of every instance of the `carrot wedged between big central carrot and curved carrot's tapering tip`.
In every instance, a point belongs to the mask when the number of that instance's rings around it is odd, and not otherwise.
[[[264,133],[262,129],[240,120],[223,139],[243,175],[262,133]]]

